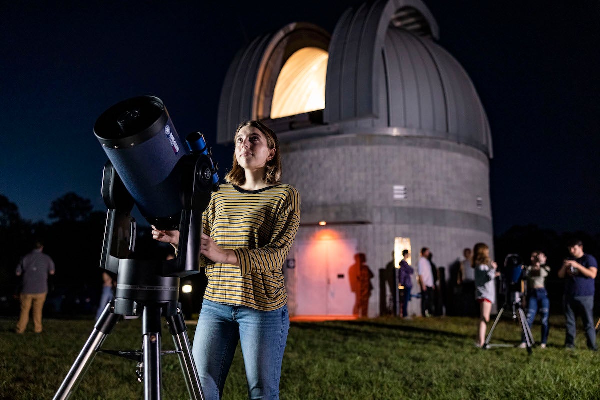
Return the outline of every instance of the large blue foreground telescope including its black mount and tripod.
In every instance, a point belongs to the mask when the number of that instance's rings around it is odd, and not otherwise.
[[[175,342],[191,399],[204,399],[179,305],[179,281],[199,273],[202,213],[218,190],[217,168],[202,134],[183,142],[163,101],[135,97],[98,118],[94,134],[109,161],[102,197],[107,206],[100,267],[117,275],[115,299],[104,309],[91,336],[55,395],[68,399],[97,353],[137,361],[145,399],[161,398],[161,317]],[[137,225],[131,210],[160,230],[179,230],[178,257],[146,259],[135,252]],[[103,350],[123,317],[142,317],[142,350]]]

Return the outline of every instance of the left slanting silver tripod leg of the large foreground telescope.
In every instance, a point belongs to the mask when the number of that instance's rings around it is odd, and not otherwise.
[[[100,351],[104,340],[110,335],[110,332],[112,332],[116,323],[118,323],[121,318],[121,315],[112,314],[110,312],[110,306],[112,306],[112,302],[107,304],[106,308],[104,308],[104,312],[95,324],[92,334],[83,346],[79,356],[77,356],[73,366],[71,366],[71,369],[65,380],[62,382],[61,387],[58,389],[58,392],[56,392],[54,400],[66,400],[70,398],[92,361],[94,361],[96,354]]]

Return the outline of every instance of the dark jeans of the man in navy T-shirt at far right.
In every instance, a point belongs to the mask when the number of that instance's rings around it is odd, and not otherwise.
[[[587,347],[596,350],[596,328],[593,320],[594,296],[565,296],[566,339],[565,347],[575,347],[577,315],[581,316],[587,336]]]

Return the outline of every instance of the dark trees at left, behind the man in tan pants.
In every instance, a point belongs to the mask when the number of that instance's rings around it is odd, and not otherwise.
[[[18,293],[17,263],[41,240],[44,252],[56,264],[56,274],[49,280],[49,299],[61,297],[66,303],[77,303],[79,311],[85,312],[85,302],[94,307],[101,290],[106,212],[94,211],[91,200],[67,193],[52,201],[48,218],[50,223],[23,219],[17,205],[0,194],[0,297],[6,303]],[[151,255],[164,252],[152,240],[149,227],[138,231],[137,249]]]

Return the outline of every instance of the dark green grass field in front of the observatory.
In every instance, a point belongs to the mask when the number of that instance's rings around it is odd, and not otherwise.
[[[0,399],[52,399],[94,326],[92,320],[46,320],[44,333],[16,335],[0,320]],[[600,354],[565,350],[564,318],[551,318],[548,348],[475,347],[475,318],[376,318],[292,323],[281,399],[599,399]],[[116,326],[103,348],[140,348],[140,320]],[[31,330],[31,326],[30,326]],[[189,335],[193,338],[194,326]],[[534,327],[539,338],[539,326]],[[163,350],[173,350],[163,330]],[[493,343],[516,345],[520,329],[502,320]],[[187,399],[178,357],[165,356],[163,398]],[[73,399],[143,399],[135,362],[98,354]],[[238,349],[225,399],[246,398]]]

